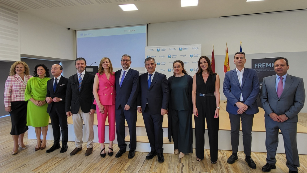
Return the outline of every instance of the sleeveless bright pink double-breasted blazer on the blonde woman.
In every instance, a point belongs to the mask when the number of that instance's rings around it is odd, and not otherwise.
[[[115,104],[115,96],[116,96],[116,90],[115,90],[115,75],[113,72],[113,75],[110,75],[110,79],[108,80],[106,78],[106,74],[103,73],[100,75],[97,73],[99,78],[99,84],[98,84],[98,96],[99,101],[102,105],[112,105]],[[96,103],[96,100],[94,101],[94,104]]]

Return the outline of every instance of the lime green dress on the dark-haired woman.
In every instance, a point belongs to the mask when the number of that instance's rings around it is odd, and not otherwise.
[[[28,101],[27,106],[27,126],[44,127],[49,124],[49,114],[47,113],[48,104],[37,106],[29,99],[45,100],[47,94],[47,81],[50,78],[33,77],[28,80],[24,92],[24,101]]]

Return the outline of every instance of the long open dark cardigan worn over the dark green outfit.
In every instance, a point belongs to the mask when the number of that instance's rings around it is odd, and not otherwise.
[[[185,76],[186,76],[186,78],[187,78],[187,80],[188,80],[188,88],[189,88],[189,100],[188,100],[188,102],[189,102],[189,105],[190,105],[190,109],[189,109],[189,113],[191,114],[191,116],[190,116],[190,122],[191,122],[191,124],[190,124],[190,126],[191,126],[191,130],[190,130],[190,141],[191,142],[193,142],[193,134],[192,134],[192,114],[193,114],[193,104],[192,104],[192,86],[193,86],[193,78],[190,76],[190,75],[188,75],[188,74],[185,74]],[[171,77],[169,77],[168,79],[167,79],[167,82],[168,82],[168,88],[169,88],[169,92],[170,92],[170,94],[169,94],[169,101],[168,101],[168,103],[169,103],[169,105],[168,105],[168,109],[169,109],[169,111],[168,111],[168,115],[167,115],[167,120],[168,120],[168,140],[171,142],[171,136],[173,135],[173,132],[172,132],[172,115],[171,115],[171,111],[170,111],[170,109],[172,109],[172,107],[171,107],[171,101],[172,101],[172,96],[171,96],[171,83],[172,83],[172,81],[173,81],[173,78],[174,78],[174,76],[171,76]]]

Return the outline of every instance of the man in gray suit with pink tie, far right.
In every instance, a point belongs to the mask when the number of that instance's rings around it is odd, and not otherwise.
[[[275,169],[275,155],[278,146],[279,129],[283,142],[289,173],[297,172],[300,161],[296,145],[297,114],[305,102],[305,89],[302,78],[287,74],[288,60],[280,57],[274,60],[276,75],[263,78],[260,100],[265,111],[266,125],[266,165],[262,171]]]

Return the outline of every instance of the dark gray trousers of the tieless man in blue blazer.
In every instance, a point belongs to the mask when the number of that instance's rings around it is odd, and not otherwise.
[[[242,115],[229,113],[232,152],[238,152],[240,121],[242,121],[244,154],[250,156],[250,151],[252,149],[253,118],[254,115],[248,115],[245,112]]]

